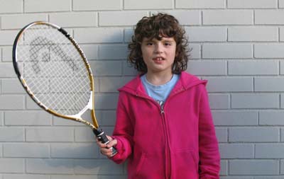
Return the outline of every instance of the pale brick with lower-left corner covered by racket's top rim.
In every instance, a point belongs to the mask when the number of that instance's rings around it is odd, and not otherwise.
[[[51,13],[50,22],[60,27],[95,27],[97,26],[97,13]]]

